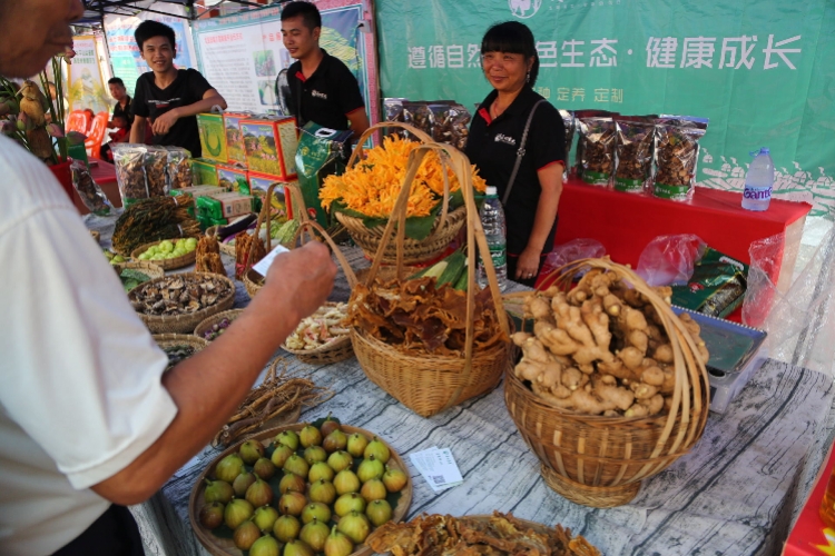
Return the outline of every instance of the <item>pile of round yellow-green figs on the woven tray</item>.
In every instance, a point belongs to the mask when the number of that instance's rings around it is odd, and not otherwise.
[[[215,466],[198,520],[218,536],[232,533],[250,555],[278,554],[285,543],[284,554],[347,556],[392,519],[409,484],[390,458],[385,443],[345,433],[330,416],[266,444],[249,439]]]

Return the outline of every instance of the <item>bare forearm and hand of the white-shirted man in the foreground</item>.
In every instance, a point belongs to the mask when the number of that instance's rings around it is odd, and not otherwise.
[[[177,405],[168,428],[92,490],[125,506],[154,495],[226,424],[284,338],[324,302],[335,275],[327,248],[316,241],[279,255],[264,288],[226,332],[163,376]]]

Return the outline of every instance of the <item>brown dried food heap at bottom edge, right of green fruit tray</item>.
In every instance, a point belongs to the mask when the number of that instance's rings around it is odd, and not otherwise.
[[[489,519],[422,515],[405,524],[386,524],[369,536],[366,544],[377,554],[394,556],[424,554],[495,556],[600,556],[581,536],[556,525],[548,533],[536,530],[513,514],[493,512]],[[439,549],[439,548],[442,548]],[[435,552],[436,550],[436,552]]]

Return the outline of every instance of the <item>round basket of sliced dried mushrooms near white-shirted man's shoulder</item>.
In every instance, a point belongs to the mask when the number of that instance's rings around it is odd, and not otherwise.
[[[191,334],[204,319],[232,308],[235,284],[212,272],[184,272],[140,284],[128,299],[151,332]]]

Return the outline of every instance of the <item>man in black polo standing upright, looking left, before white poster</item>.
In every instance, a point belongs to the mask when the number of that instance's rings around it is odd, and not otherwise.
[[[289,2],[282,10],[284,46],[297,60],[287,69],[289,109],[298,127],[314,121],[331,129],[351,129],[356,139],[369,129],[360,83],[340,59],[320,48],[322,16],[313,3]]]

